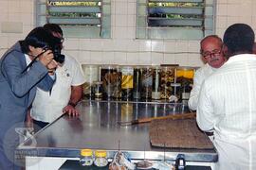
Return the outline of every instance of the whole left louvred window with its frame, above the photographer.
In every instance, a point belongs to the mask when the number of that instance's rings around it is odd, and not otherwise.
[[[38,26],[58,24],[64,29],[65,37],[110,38],[109,0],[42,1],[37,1]]]

